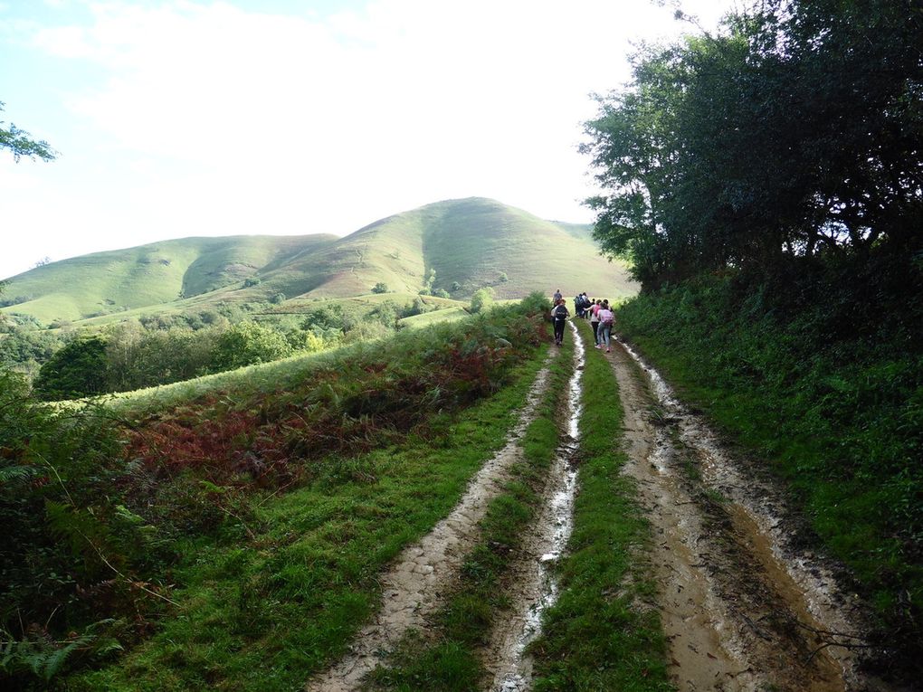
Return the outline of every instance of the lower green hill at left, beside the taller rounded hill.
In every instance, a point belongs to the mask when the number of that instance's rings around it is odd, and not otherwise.
[[[258,268],[324,245],[334,236],[184,238],[54,262],[13,277],[5,308],[42,322],[168,304],[239,283]]]

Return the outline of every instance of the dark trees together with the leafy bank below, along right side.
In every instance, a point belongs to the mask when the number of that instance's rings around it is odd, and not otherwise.
[[[923,6],[766,0],[646,47],[586,124],[622,332],[785,477],[923,661]]]

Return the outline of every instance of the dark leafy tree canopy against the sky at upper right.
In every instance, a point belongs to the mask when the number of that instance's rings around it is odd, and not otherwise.
[[[650,288],[793,257],[916,252],[923,7],[765,0],[642,48],[582,151],[595,237]]]

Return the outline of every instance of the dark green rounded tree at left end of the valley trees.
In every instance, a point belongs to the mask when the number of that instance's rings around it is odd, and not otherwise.
[[[46,401],[78,399],[106,390],[106,340],[77,337],[48,359],[35,378],[35,393]]]

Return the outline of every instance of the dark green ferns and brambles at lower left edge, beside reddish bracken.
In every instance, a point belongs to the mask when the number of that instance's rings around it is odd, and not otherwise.
[[[118,505],[122,447],[109,418],[60,411],[0,370],[0,680],[47,682],[146,626],[159,587],[149,528]],[[152,603],[153,602],[153,603]],[[99,619],[118,611],[127,620]],[[82,632],[78,634],[78,632]],[[45,686],[42,685],[42,688]]]

